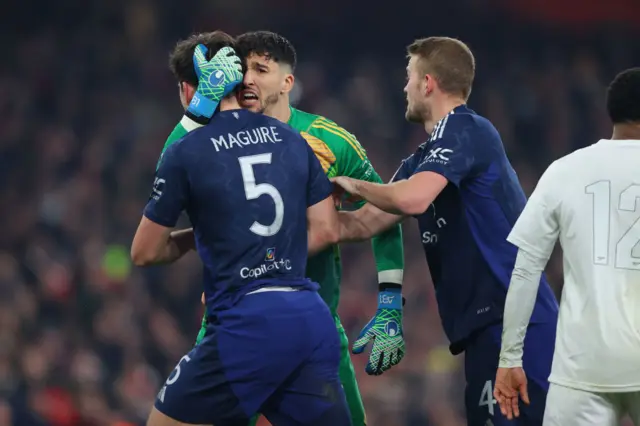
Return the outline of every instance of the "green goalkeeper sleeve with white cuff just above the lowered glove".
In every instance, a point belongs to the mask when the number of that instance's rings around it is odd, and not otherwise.
[[[371,241],[379,283],[402,284],[404,248],[402,226],[396,224]]]

